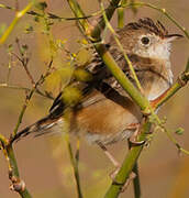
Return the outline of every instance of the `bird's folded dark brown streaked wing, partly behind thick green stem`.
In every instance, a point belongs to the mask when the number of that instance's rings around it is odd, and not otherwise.
[[[118,50],[118,47],[112,47],[111,44],[105,45],[107,50],[110,51],[113,58],[119,63],[121,69],[125,73],[125,75],[131,78],[130,69],[127,67],[126,61],[122,53]],[[91,106],[94,102],[98,102],[104,98],[109,98],[116,102],[114,98],[114,94],[121,95],[122,97],[129,97],[127,94],[123,90],[121,85],[116,81],[116,79],[112,76],[110,70],[107,68],[101,57],[97,52],[92,54],[91,63],[86,67],[86,70],[92,75],[92,81],[89,82],[77,82],[77,87],[79,87],[82,92],[81,107]],[[131,57],[129,55],[129,57]],[[132,58],[132,57],[131,57]],[[132,62],[135,62],[135,58],[132,58]],[[92,94],[93,91],[93,94]],[[97,92],[101,95],[98,95]],[[63,101],[60,92],[57,98],[54,100],[53,106],[49,109],[49,114],[53,118],[57,118],[63,116],[64,109],[66,105]]]

